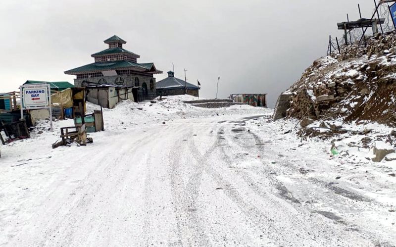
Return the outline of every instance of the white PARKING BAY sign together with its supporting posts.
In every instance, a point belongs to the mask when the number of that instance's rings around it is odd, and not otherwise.
[[[20,86],[21,120],[23,110],[49,109],[49,123],[52,131],[51,86],[49,84],[30,84]]]

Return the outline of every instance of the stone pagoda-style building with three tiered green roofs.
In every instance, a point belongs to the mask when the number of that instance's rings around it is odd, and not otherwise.
[[[138,63],[140,55],[123,49],[122,45],[126,42],[116,35],[104,43],[108,45],[108,49],[92,54],[95,58],[94,63],[64,72],[77,76],[74,85],[82,87],[89,82],[91,85],[94,83],[134,86],[140,88],[143,96],[155,96],[153,74],[161,74],[162,71],[157,70],[154,63]]]

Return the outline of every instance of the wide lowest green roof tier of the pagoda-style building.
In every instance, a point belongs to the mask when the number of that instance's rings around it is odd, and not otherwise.
[[[145,71],[147,68],[140,65],[139,63],[134,63],[126,60],[108,61],[108,62],[94,62],[87,64],[75,69],[65,71],[65,74],[78,74],[80,72],[90,72],[90,71],[102,71],[102,70],[115,70],[121,68],[133,67],[134,69]]]

